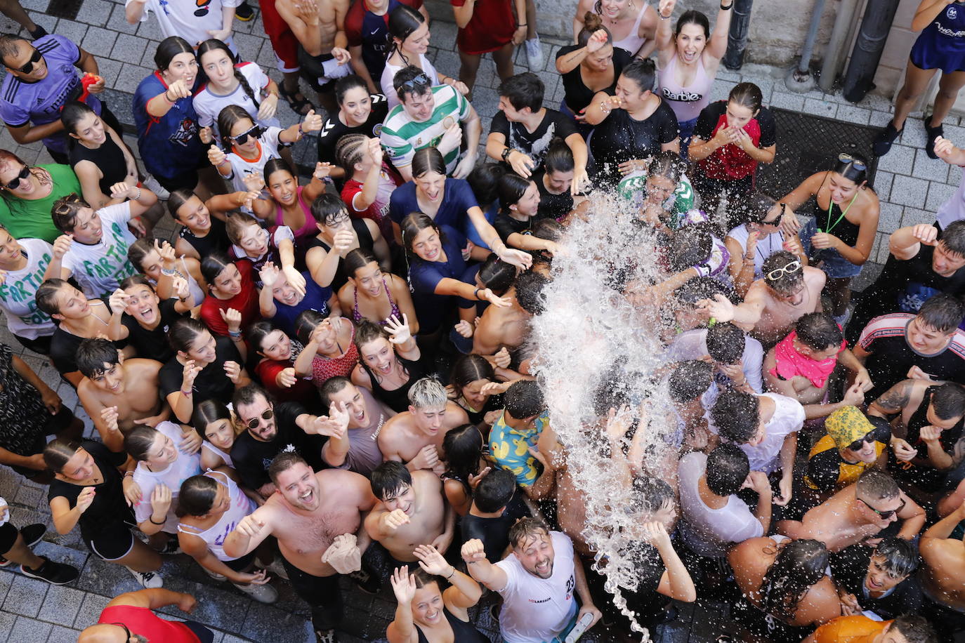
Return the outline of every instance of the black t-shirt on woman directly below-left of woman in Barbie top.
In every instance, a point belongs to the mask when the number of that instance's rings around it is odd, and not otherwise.
[[[644,159],[660,152],[660,147],[672,143],[679,134],[674,110],[666,100],[647,119],[634,120],[629,112],[613,110],[593,128],[590,150],[593,152],[594,178],[611,186],[620,183],[620,163]]]

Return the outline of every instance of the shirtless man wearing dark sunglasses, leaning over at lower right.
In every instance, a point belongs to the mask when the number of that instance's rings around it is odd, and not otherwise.
[[[778,533],[790,538],[813,538],[830,551],[870,540],[892,522],[903,521],[898,538],[911,540],[924,526],[924,509],[898,489],[895,479],[879,469],[868,469],[849,485],[814,507],[798,521],[781,521]]]

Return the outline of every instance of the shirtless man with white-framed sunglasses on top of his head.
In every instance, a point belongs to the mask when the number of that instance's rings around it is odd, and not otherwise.
[[[802,315],[821,310],[821,289],[827,277],[817,268],[802,266],[786,250],[768,256],[763,272],[764,278],[751,284],[739,306],[724,295],[700,304],[708,317],[732,321],[769,347],[783,339]]]

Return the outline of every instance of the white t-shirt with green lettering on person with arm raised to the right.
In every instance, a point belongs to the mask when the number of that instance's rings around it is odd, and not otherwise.
[[[62,263],[88,299],[109,297],[121,281],[137,274],[127,260],[127,249],[134,243],[134,235],[127,229],[130,201],[102,207],[97,215],[103,231],[100,241],[94,245],[74,241]]]

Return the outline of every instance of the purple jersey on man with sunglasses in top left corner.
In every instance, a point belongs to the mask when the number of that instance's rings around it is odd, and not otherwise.
[[[78,69],[74,67],[80,60],[80,48],[76,44],[53,35],[34,40],[34,46],[46,62],[46,77],[28,83],[8,73],[0,85],[0,118],[11,127],[60,121],[64,103],[83,92]],[[89,95],[86,102],[100,114],[100,101],[95,96]],[[43,139],[43,145],[66,154],[67,135],[62,132],[48,136]]]

